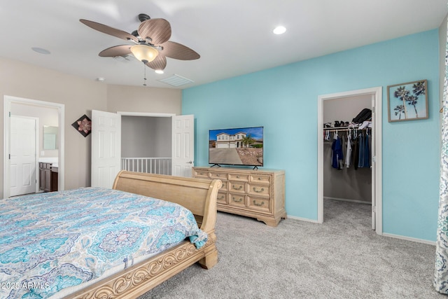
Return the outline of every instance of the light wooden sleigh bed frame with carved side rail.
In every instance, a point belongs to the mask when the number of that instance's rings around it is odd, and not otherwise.
[[[209,239],[201,249],[196,249],[187,240],[183,241],[66,298],[137,298],[196,262],[206,269],[216,265],[216,195],[219,188],[220,180],[119,172],[113,189],[183,205],[193,212],[200,228],[209,234]]]

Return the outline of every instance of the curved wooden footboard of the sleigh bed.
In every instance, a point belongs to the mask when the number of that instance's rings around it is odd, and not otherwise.
[[[181,204],[192,211],[198,220],[202,220],[202,217],[207,218],[207,213],[216,214],[216,196],[221,186],[220,180],[192,179],[125,170],[119,172],[113,182],[113,189]],[[206,230],[202,227],[201,229]]]

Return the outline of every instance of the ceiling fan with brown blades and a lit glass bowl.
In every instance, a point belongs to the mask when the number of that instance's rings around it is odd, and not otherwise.
[[[130,41],[132,45],[113,46],[102,50],[101,57],[118,57],[129,54],[155,70],[163,70],[167,66],[167,58],[176,60],[197,60],[200,55],[183,46],[181,43],[169,41],[171,37],[171,25],[165,19],[151,19],[149,15],[139,14],[141,24],[139,29],[129,34],[120,29],[115,29],[97,22],[80,19],[79,21],[99,32],[116,36],[119,39]]]

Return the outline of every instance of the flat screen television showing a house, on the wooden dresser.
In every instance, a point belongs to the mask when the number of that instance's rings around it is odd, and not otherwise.
[[[263,127],[209,130],[209,164],[263,166]]]

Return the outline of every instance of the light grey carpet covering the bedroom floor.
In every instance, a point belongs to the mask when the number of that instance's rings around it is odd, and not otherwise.
[[[435,246],[382,237],[370,205],[325,200],[323,224],[271,228],[218,212],[218,264],[188,267],[149,298],[447,298],[433,288]]]

